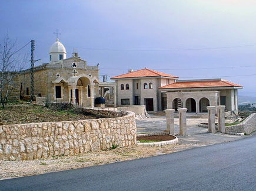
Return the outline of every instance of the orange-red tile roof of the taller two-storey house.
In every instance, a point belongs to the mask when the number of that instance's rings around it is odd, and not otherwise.
[[[155,71],[150,69],[132,71],[127,74],[111,77],[111,79],[114,80],[114,79],[125,79],[125,78],[131,78],[131,77],[157,77],[157,76],[173,77],[175,79],[178,79],[178,76],[172,76],[169,74],[162,73],[161,71]]]

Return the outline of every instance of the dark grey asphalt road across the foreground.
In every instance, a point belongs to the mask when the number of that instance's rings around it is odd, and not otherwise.
[[[256,137],[0,181],[0,190],[256,190]]]

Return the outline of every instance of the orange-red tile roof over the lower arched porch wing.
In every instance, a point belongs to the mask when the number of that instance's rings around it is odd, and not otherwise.
[[[200,88],[200,87],[242,87],[239,84],[232,83],[230,81],[218,80],[218,81],[179,81],[167,86],[159,87],[160,89],[170,88]]]

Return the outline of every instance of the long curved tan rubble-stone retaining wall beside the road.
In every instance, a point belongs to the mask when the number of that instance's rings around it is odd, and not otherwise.
[[[137,143],[133,112],[124,117],[0,126],[0,159],[31,160]]]

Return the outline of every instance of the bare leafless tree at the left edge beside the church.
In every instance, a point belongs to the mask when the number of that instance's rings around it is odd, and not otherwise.
[[[19,88],[18,75],[27,61],[26,56],[21,58],[19,50],[16,50],[16,40],[12,42],[8,35],[0,42],[0,103],[3,108],[12,91]]]

